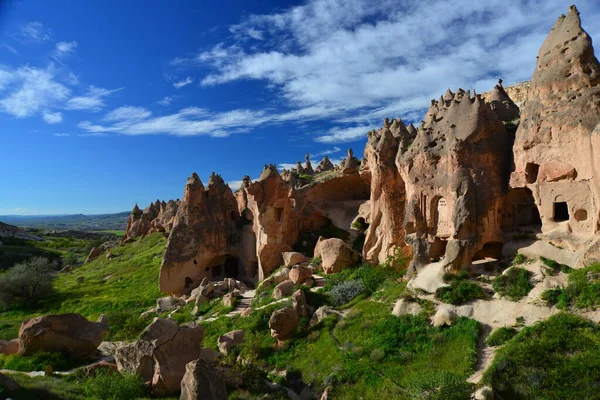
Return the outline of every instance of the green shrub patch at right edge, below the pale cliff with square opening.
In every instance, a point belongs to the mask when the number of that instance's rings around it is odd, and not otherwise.
[[[600,305],[600,263],[571,271],[566,288],[546,290],[542,299],[561,310],[569,306],[596,309]]]

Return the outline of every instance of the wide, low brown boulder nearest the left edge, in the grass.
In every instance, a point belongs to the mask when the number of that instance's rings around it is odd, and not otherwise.
[[[19,354],[59,352],[74,358],[91,357],[108,333],[108,325],[80,314],[44,315],[26,320],[19,330]]]

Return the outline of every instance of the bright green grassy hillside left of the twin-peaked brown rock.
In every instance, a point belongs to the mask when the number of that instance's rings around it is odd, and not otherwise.
[[[35,309],[0,312],[0,339],[17,337],[21,322],[44,314],[76,312],[90,320],[107,314],[107,340],[135,338],[148,324],[139,315],[161,297],[158,290],[160,263],[166,239],[161,233],[111,249],[115,258],[100,256],[71,273],[58,274],[55,293]],[[78,278],[83,282],[79,283]]]

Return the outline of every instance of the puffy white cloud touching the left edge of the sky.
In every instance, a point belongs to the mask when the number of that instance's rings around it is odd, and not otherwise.
[[[0,109],[17,118],[56,106],[70,93],[68,87],[55,80],[51,67],[11,70],[0,66]]]

